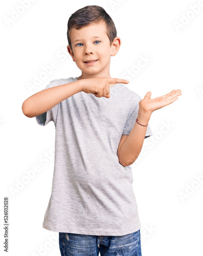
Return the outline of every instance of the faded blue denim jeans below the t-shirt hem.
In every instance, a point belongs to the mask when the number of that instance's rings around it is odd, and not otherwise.
[[[59,232],[59,247],[62,256],[142,256],[140,229],[118,237]]]

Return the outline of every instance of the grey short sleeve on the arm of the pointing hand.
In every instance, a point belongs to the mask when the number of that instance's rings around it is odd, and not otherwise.
[[[46,88],[42,89],[46,90],[55,86],[60,86],[60,82],[56,79],[56,80],[52,80],[48,86],[46,86]],[[57,118],[57,113],[58,113],[58,106],[59,104],[53,106],[52,109],[48,110],[47,112],[44,112],[38,116],[36,116],[36,121],[39,125],[47,125],[50,121],[53,121],[54,124],[56,125],[56,118]]]

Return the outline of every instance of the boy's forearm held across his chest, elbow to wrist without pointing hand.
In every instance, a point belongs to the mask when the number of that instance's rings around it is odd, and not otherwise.
[[[59,102],[82,91],[82,80],[62,84],[42,90],[22,103],[22,112],[27,117],[35,117],[52,109]]]

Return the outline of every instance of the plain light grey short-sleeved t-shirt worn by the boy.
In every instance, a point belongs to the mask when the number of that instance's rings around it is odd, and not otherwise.
[[[47,88],[78,80],[52,80]],[[131,167],[119,163],[122,135],[129,135],[141,97],[125,84],[110,98],[79,92],[36,116],[55,124],[52,193],[43,228],[95,236],[124,236],[141,228]],[[152,132],[147,126],[146,137]],[[145,138],[146,138],[145,137]]]

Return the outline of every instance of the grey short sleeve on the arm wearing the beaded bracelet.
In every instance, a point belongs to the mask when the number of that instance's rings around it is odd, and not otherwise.
[[[139,99],[141,100],[141,97],[139,96]],[[139,100],[139,102],[140,102]],[[134,108],[132,114],[129,113],[129,117],[125,123],[125,127],[124,127],[124,130],[123,130],[123,133],[122,135],[129,135],[134,124],[136,123],[136,118],[138,117],[138,111],[139,111],[139,102],[138,104],[136,105],[136,107]],[[146,131],[146,134],[145,134],[145,139],[148,138],[149,136],[152,136],[152,132],[151,132],[151,129],[149,127],[149,124],[147,125],[147,131]]]

